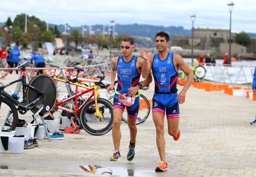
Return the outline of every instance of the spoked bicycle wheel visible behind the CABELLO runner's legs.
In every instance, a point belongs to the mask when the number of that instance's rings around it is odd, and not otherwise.
[[[136,125],[143,123],[149,117],[149,113],[150,113],[150,104],[148,99],[143,94],[140,94],[139,99],[140,99],[140,104],[143,104],[143,106],[140,105],[141,109],[138,112]],[[126,109],[124,110],[122,120],[128,123],[128,115],[127,115]]]

